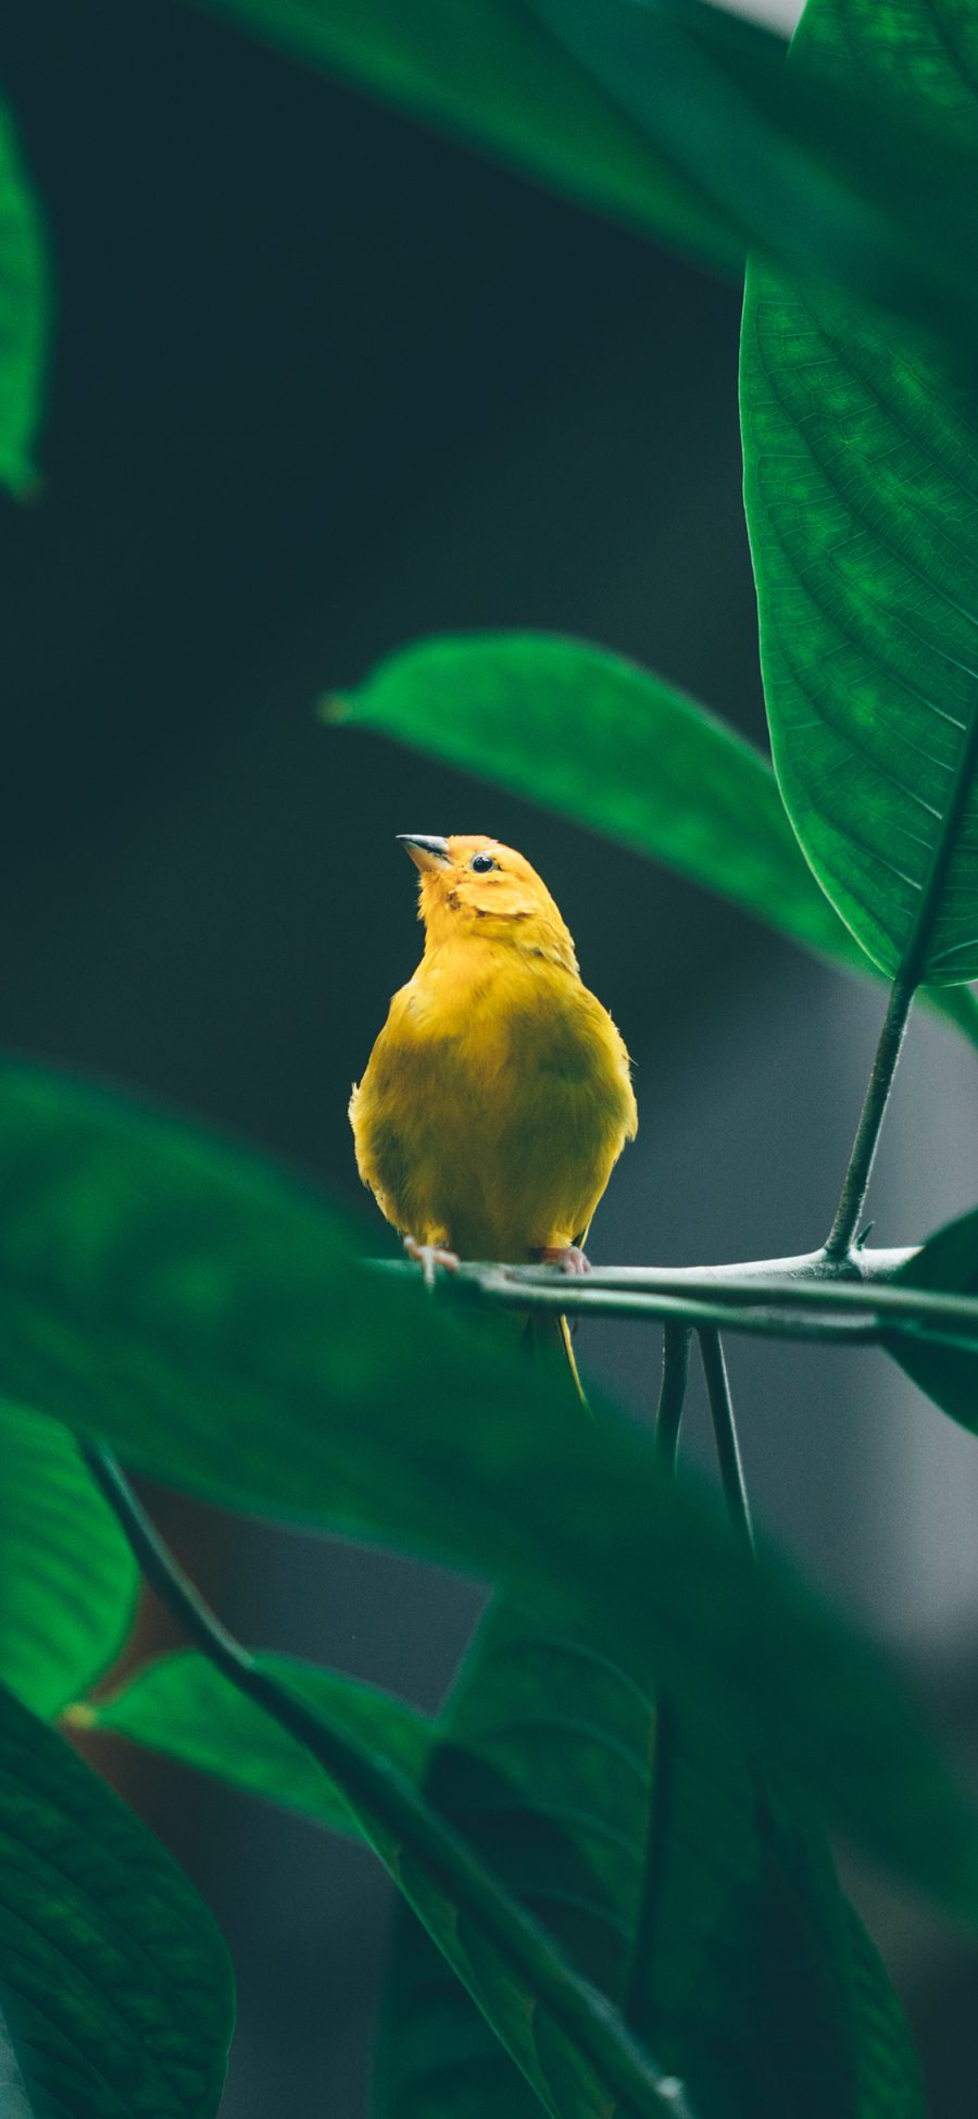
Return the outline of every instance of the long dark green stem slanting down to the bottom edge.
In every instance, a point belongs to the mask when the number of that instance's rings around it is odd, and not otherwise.
[[[692,2119],[684,2085],[654,2066],[620,2017],[550,1943],[550,1937],[493,1880],[470,1846],[436,1816],[400,1771],[356,1738],[328,1725],[311,1706],[260,1668],[227,1625],[210,1610],[199,1589],[159,1536],[135,1498],[121,1464],[102,1443],[78,1443],[85,1464],[129,1538],[135,1560],[210,1663],[271,1714],[296,1744],[318,1759],[343,1797],[356,1808],[364,1837],[385,1863],[413,1909],[423,1920],[411,1890],[411,1852],[421,1856],[438,1886],[470,1907],[493,1945],[519,1969],[527,1988],[559,2024],[572,2047],[593,2066],[629,2111]],[[379,1822],[377,1822],[379,1820]],[[385,1852],[387,1841],[387,1852]],[[394,1844],[394,1846],[392,1846]],[[430,1928],[432,1939],[438,1935]],[[449,1958],[451,1969],[457,1966]],[[457,1973],[457,1977],[461,1977]],[[472,1990],[478,2002],[478,1994]],[[495,2026],[493,2026],[495,2028]],[[512,2053],[517,2066],[519,2060]]]

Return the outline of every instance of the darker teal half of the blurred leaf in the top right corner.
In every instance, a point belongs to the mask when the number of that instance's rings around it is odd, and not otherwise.
[[[701,0],[529,0],[745,250],[974,337],[974,129]],[[866,0],[840,0],[872,21]],[[904,17],[917,0],[891,0]],[[874,11],[876,21],[881,8]],[[881,49],[883,38],[881,38]],[[967,282],[967,284],[965,284]]]

